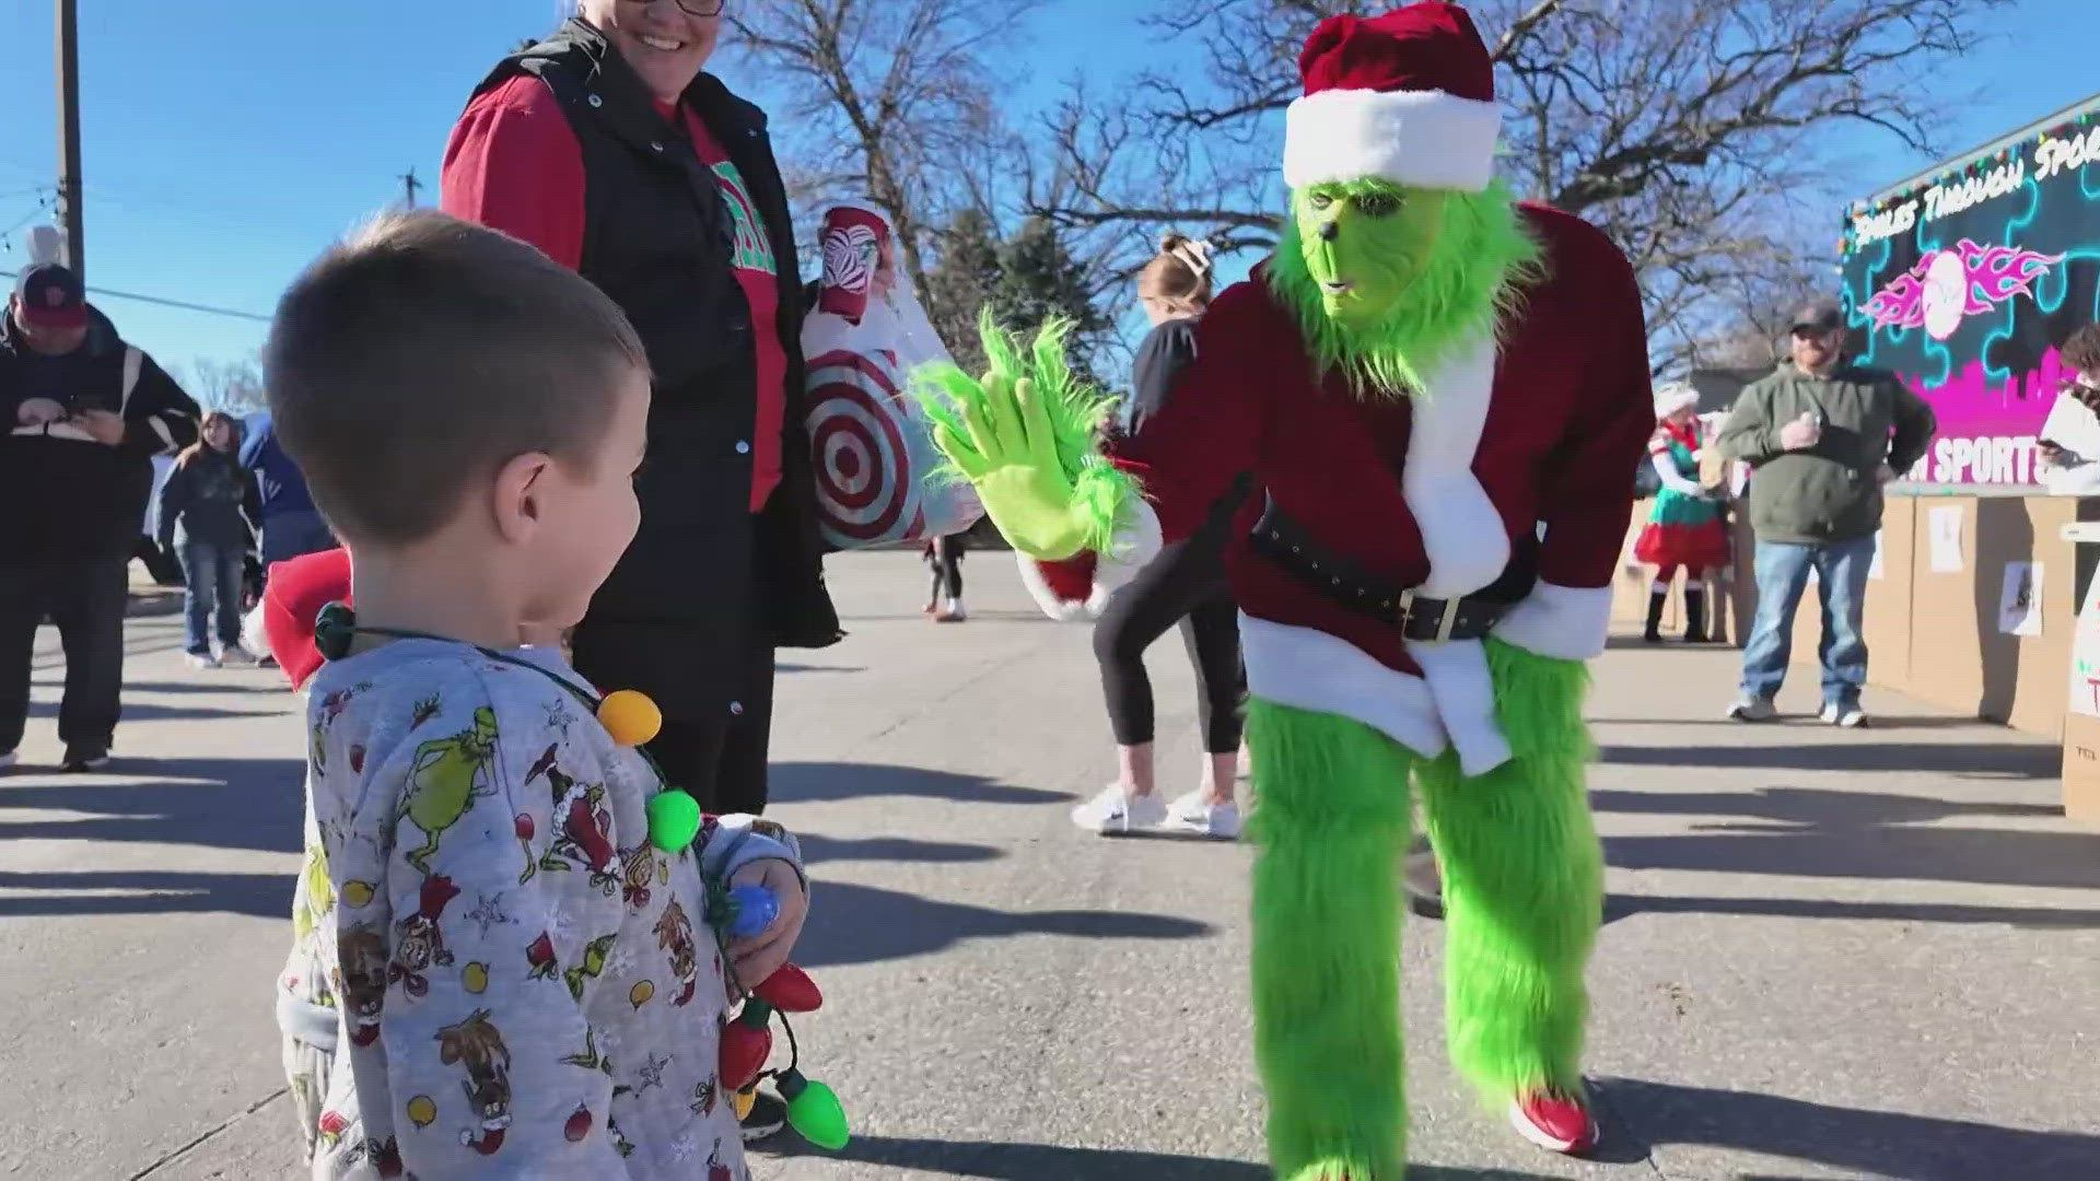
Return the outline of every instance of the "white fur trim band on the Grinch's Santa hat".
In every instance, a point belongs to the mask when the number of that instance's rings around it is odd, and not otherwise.
[[[1292,189],[1380,177],[1415,189],[1478,193],[1495,177],[1502,109],[1441,90],[1319,90],[1283,128]]]

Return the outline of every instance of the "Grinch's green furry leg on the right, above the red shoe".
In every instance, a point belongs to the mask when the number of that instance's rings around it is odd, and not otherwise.
[[[1499,1107],[1581,1078],[1604,857],[1583,788],[1588,670],[1495,641],[1487,658],[1516,759],[1466,780],[1445,754],[1418,782],[1443,864],[1451,1061]]]

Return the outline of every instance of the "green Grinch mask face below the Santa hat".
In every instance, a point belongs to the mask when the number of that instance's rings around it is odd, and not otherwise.
[[[1378,319],[1422,277],[1443,233],[1447,195],[1384,181],[1308,185],[1292,193],[1298,246],[1329,319],[1342,326]]]

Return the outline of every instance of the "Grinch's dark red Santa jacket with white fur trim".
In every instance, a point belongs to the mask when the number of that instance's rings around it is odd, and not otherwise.
[[[1655,429],[1640,290],[1588,223],[1544,206],[1522,216],[1546,279],[1522,292],[1499,347],[1453,349],[1413,397],[1315,374],[1260,271],[1220,294],[1178,391],[1117,456],[1142,471],[1163,536],[1186,536],[1252,471],[1323,548],[1428,597],[1493,584],[1537,538],[1537,584],[1495,635],[1562,660],[1602,651],[1632,473]],[[1254,693],[1354,717],[1422,754],[1455,744],[1468,773],[1508,759],[1476,641],[1409,643],[1235,534],[1226,563]]]

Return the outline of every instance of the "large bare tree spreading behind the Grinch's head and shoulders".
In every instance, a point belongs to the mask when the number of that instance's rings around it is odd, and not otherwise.
[[[1504,103],[1502,172],[1575,212],[1642,279],[1657,370],[1701,361],[1800,286],[1835,237],[1821,132],[1877,126],[1932,149],[1947,95],[1930,71],[1976,44],[2008,0],[1478,0]],[[1155,227],[1233,250],[1275,244],[1281,111],[1298,48],[1350,0],[1208,0],[1153,17],[1197,44],[1189,71],[1136,80],[1138,103],[1082,90],[1050,120],[1031,212],[1113,237],[1128,261]],[[1132,227],[1140,227],[1132,233]]]

